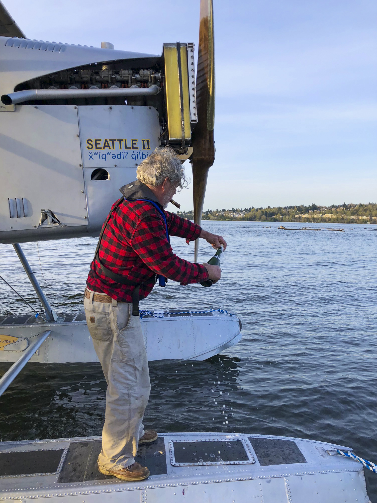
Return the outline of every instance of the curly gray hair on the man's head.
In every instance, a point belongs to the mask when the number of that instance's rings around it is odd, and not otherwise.
[[[184,168],[171,147],[157,147],[137,166],[136,178],[146,185],[158,187],[168,178],[178,188],[187,187]]]

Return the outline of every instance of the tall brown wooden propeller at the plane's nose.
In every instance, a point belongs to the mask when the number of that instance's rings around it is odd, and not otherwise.
[[[213,26],[213,0],[201,0],[199,52],[197,69],[198,123],[192,133],[194,189],[194,221],[202,221],[208,170],[215,160],[215,45]],[[195,262],[198,260],[199,240],[195,241]]]

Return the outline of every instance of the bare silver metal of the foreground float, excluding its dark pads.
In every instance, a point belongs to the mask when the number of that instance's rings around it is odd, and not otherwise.
[[[0,483],[0,501],[27,501],[49,498],[54,503],[368,503],[361,464],[342,456],[325,454],[340,448],[312,440],[262,435],[226,435],[229,440],[279,439],[294,441],[306,463],[261,466],[254,453],[254,464],[211,466],[172,466],[168,444],[171,441],[203,441],[208,436],[222,439],[224,434],[174,433],[164,437],[166,473],[151,475],[141,482],[118,479],[58,483],[59,473],[52,475],[8,476]],[[74,441],[97,440],[99,437],[37,440],[0,443],[0,452],[36,449],[66,449]]]

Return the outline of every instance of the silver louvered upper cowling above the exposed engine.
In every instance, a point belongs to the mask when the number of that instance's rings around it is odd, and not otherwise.
[[[100,47],[0,37],[2,94],[13,93],[21,82],[66,68],[143,57],[157,56]]]

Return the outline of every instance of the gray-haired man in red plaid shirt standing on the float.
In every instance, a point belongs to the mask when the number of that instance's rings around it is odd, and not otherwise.
[[[221,269],[177,257],[169,236],[198,237],[226,248],[222,236],[165,211],[186,185],[180,160],[170,147],[156,148],[137,167],[137,180],[120,189],[98,241],[84,293],[87,326],[108,388],[98,469],[122,480],[144,480],[149,470],[135,462],[138,446],[157,439],[144,431],[150,392],[148,361],[139,319],[139,299],[166,279],[181,285],[221,277]]]

